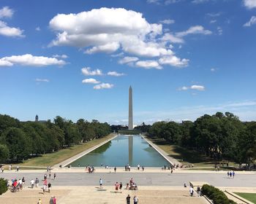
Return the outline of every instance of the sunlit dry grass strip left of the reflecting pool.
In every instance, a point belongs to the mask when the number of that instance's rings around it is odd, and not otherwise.
[[[53,152],[49,154],[42,154],[39,157],[33,157],[29,160],[25,160],[19,164],[12,165],[15,169],[16,165],[19,165],[20,168],[23,169],[22,166],[29,166],[29,167],[48,167],[56,165],[64,160],[69,159],[70,157],[75,156],[76,154],[79,154],[80,152],[85,151],[86,149],[89,149],[97,144],[102,143],[103,141],[106,141],[110,138],[113,138],[113,134],[110,134],[109,136],[106,136],[104,138],[99,138],[93,141],[89,141],[85,144],[78,144],[72,147],[69,147],[67,149],[61,149],[59,152]],[[8,165],[7,165],[8,166]]]

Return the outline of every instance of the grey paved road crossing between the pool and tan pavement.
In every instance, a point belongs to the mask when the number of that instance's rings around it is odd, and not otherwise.
[[[117,171],[118,172],[118,171]],[[54,171],[52,171],[53,175]],[[42,179],[44,173],[3,173],[1,177],[22,178],[25,176],[26,181],[31,178]],[[182,187],[184,182],[189,181],[206,181],[215,187],[255,187],[256,174],[236,173],[235,178],[227,178],[223,173],[173,173],[165,171],[163,173],[57,173],[56,181],[52,181],[53,186],[95,186],[98,184],[99,178],[102,178],[107,186],[113,186],[118,182],[126,184],[130,178],[138,186],[179,186]]]

